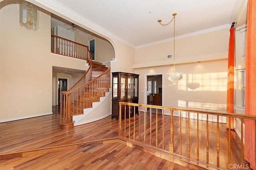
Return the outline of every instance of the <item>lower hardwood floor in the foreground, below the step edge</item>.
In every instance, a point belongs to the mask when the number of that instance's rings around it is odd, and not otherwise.
[[[0,161],[1,170],[189,170],[120,143],[37,154]]]

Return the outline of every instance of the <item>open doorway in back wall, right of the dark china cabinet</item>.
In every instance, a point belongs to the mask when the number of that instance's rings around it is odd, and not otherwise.
[[[162,74],[147,76],[147,104],[162,106]]]

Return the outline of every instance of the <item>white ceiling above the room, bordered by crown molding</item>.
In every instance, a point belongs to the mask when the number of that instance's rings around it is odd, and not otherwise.
[[[65,10],[74,18],[93,23],[110,35],[137,48],[173,37],[176,16],[176,36],[206,29],[230,27],[243,1],[247,0],[51,0],[42,2],[51,9]],[[58,9],[57,9],[58,10]],[[70,17],[69,16],[69,17]],[[71,17],[70,17],[71,18]],[[82,27],[82,24],[79,25]]]

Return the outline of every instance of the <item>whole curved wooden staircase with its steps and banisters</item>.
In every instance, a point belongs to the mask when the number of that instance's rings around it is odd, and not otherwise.
[[[110,68],[102,63],[88,60],[89,68],[68,91],[62,92],[60,106],[61,129],[74,127],[73,116],[83,115],[84,109],[100,102],[110,88]]]

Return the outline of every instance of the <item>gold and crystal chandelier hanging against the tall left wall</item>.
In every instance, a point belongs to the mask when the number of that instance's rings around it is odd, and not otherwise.
[[[20,25],[26,29],[38,29],[37,6],[20,0]]]

